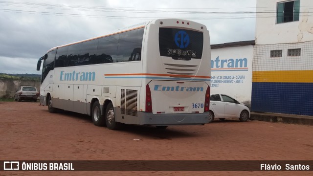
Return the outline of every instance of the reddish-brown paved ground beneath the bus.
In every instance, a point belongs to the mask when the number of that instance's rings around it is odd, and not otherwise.
[[[214,120],[204,126],[127,126],[0,102],[0,160],[313,160],[313,126]],[[135,140],[134,140],[135,139]],[[313,167],[313,166],[312,166]],[[284,175],[310,175],[284,172]],[[0,175],[282,175],[282,172],[0,172]]]

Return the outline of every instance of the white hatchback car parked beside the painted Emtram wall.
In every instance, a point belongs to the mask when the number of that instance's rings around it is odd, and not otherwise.
[[[224,120],[225,118],[239,118],[246,122],[250,118],[249,108],[224,94],[213,94],[210,96],[209,123],[214,119]]]

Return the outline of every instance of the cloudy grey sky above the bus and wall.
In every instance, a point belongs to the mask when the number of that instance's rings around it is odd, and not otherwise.
[[[0,1],[0,73],[41,74],[52,47],[157,18],[200,22],[211,44],[254,40],[256,0]]]

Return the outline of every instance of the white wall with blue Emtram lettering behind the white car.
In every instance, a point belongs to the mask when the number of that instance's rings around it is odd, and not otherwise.
[[[254,41],[211,45],[211,94],[251,102]]]

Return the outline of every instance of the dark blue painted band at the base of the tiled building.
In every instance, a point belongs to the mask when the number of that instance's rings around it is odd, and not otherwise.
[[[251,110],[313,116],[313,83],[252,82]]]

